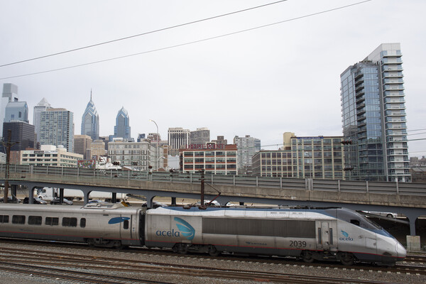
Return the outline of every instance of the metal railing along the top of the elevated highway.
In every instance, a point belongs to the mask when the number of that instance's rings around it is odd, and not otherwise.
[[[0,177],[4,177],[6,164],[0,164]],[[182,182],[199,184],[202,178],[198,173],[163,173],[136,170],[102,170],[86,168],[64,168],[53,166],[9,165],[9,175],[13,180],[28,180],[28,174],[41,174],[50,177],[46,182],[67,178],[147,180],[154,182]],[[4,178],[0,178],[3,180]],[[12,180],[12,178],[11,178]],[[368,182],[353,180],[316,180],[312,178],[270,178],[242,175],[204,175],[205,182],[211,185],[228,185],[235,187],[263,187],[282,190],[312,190],[329,192],[375,193],[386,195],[426,196],[425,183],[413,182]]]

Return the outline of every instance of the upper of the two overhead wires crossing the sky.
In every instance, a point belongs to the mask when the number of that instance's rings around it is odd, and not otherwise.
[[[265,6],[271,6],[273,4],[278,4],[278,3],[281,3],[281,2],[284,2],[284,1],[288,1],[288,0],[275,1],[275,2],[272,2],[272,3],[268,3],[268,4],[263,4],[263,5],[260,5],[260,6],[251,7],[251,8],[248,8],[248,9],[234,11],[234,12],[231,12],[231,13],[224,13],[222,15],[212,16],[212,17],[209,17],[209,18],[203,18],[203,19],[197,20],[197,21],[192,21],[192,22],[188,22],[188,23],[180,23],[179,25],[170,26],[168,28],[160,28],[160,29],[155,30],[155,31],[148,31],[146,33],[138,33],[137,35],[129,35],[129,36],[126,36],[124,38],[117,38],[115,40],[108,40],[108,41],[104,41],[102,43],[95,43],[95,44],[92,44],[92,45],[82,46],[81,48],[74,48],[74,49],[70,49],[70,50],[61,51],[59,53],[53,53],[53,54],[50,54],[50,55],[39,56],[38,58],[30,58],[30,59],[26,59],[26,60],[11,62],[11,63],[7,63],[7,64],[4,64],[4,65],[0,65],[0,67],[9,66],[9,65],[15,65],[15,64],[18,64],[18,63],[23,63],[23,62],[38,60],[38,59],[42,59],[42,58],[49,58],[51,56],[60,55],[60,54],[64,54],[64,53],[72,53],[72,52],[77,51],[77,50],[83,50],[83,49],[87,49],[87,48],[94,48],[95,46],[106,45],[108,43],[115,43],[115,42],[120,41],[120,40],[128,40],[130,38],[136,38],[136,37],[141,36],[141,35],[148,35],[150,33],[158,33],[160,31],[167,31],[167,30],[170,30],[172,28],[180,28],[182,26],[188,26],[188,25],[191,25],[193,23],[200,23],[200,22],[203,22],[203,21],[212,20],[214,18],[221,18],[221,17],[224,17],[224,16],[230,16],[230,15],[234,15],[236,13],[246,12],[246,11],[250,11],[250,10],[253,10],[253,9],[262,8],[262,7],[265,7]]]

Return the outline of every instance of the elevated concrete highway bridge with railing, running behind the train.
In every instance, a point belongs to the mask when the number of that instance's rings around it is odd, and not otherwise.
[[[9,184],[28,188],[58,187],[90,192],[116,192],[146,197],[200,200],[201,174],[160,173],[132,170],[99,170],[34,165],[10,165]],[[0,182],[6,180],[6,165],[0,164]],[[205,199],[300,207],[346,207],[354,210],[397,212],[408,217],[410,234],[415,236],[415,220],[426,216],[426,184],[412,182],[366,182],[267,178],[239,175],[205,175]],[[32,201],[32,200],[31,200]]]

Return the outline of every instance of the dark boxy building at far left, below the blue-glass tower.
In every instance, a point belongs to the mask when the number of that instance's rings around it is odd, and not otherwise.
[[[28,122],[26,121],[4,122],[4,141],[9,141],[9,130],[11,131],[11,151],[21,151],[25,150],[26,148],[35,147],[35,129],[33,125],[28,124]],[[6,153],[6,148],[4,146],[1,146],[0,151]]]

